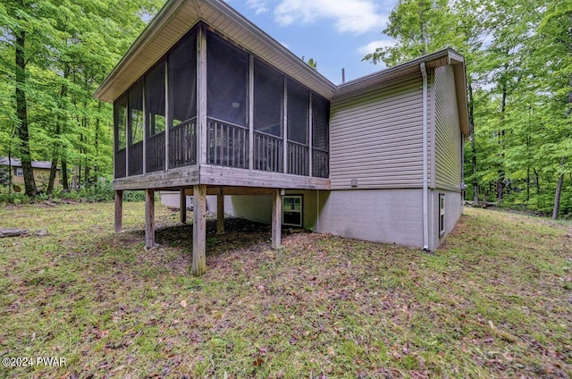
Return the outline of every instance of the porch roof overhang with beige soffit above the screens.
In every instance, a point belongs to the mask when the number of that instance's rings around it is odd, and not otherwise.
[[[97,88],[95,97],[107,102],[120,97],[198,21],[205,21],[323,97],[332,98],[336,86],[330,80],[223,0],[169,0]]]

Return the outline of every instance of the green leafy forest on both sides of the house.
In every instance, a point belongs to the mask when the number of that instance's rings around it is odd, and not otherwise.
[[[62,169],[82,187],[111,179],[111,105],[93,93],[164,0],[0,3],[0,156]],[[401,0],[365,60],[392,66],[452,47],[465,55],[472,136],[466,198],[572,216],[572,2]]]

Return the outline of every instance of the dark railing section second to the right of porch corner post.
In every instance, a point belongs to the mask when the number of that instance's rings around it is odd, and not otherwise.
[[[254,169],[282,173],[284,171],[283,145],[281,137],[255,131]]]

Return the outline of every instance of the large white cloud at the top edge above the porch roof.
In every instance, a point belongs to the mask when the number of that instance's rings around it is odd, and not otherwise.
[[[387,16],[378,13],[373,0],[281,0],[274,17],[282,25],[330,19],[340,32],[357,34],[382,30],[387,23]]]

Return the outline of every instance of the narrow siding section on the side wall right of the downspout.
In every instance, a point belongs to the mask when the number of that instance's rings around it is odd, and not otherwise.
[[[435,181],[438,189],[460,191],[461,131],[452,66],[439,67],[434,77]]]

